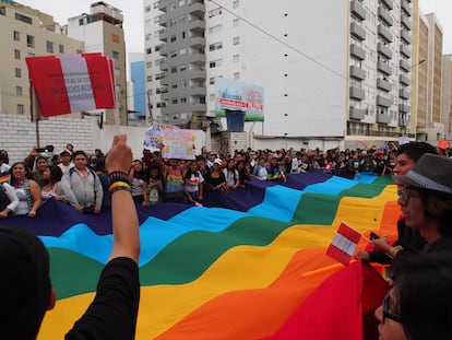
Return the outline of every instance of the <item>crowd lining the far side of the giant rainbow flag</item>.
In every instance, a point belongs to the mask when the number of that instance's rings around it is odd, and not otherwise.
[[[427,144],[427,143],[425,143]],[[430,146],[433,149],[432,146]],[[440,151],[445,156],[449,150]],[[392,174],[397,149],[379,150],[236,150],[233,154],[209,152],[205,146],[195,160],[162,159],[158,151],[144,149],[128,173],[135,203],[152,206],[178,202],[202,206],[209,191],[227,194],[243,188],[247,180],[286,180],[287,174],[311,171],[353,178],[361,172]],[[46,200],[55,198],[84,213],[110,208],[109,179],[105,154],[75,151],[71,143],[60,153],[53,146],[33,149],[21,162],[9,164],[0,151],[0,176],[10,175],[1,187],[0,216],[27,214],[33,218]],[[13,195],[15,192],[15,195]]]

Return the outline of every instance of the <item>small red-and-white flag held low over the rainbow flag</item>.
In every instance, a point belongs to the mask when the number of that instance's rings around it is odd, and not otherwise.
[[[334,235],[331,245],[326,249],[326,255],[344,266],[348,266],[360,237],[361,234],[357,231],[354,231],[345,223],[341,223],[336,235]]]

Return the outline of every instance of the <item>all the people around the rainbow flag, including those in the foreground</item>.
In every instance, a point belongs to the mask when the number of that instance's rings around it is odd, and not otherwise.
[[[115,137],[108,155],[100,150],[87,155],[84,151],[74,151],[70,144],[58,155],[52,154],[52,148],[44,152],[33,150],[24,161],[11,166],[8,152],[0,151],[0,175],[9,178],[0,190],[1,218],[10,213],[34,218],[40,204],[50,198],[66,201],[82,213],[96,214],[111,208],[111,256],[93,304],[68,333],[68,339],[90,333],[100,338],[114,339],[118,335],[118,339],[133,338],[139,304],[136,204],[159,201],[201,204],[210,190],[226,195],[246,186],[250,178],[285,180],[285,174],[310,171],[354,176],[360,172],[393,175],[401,206],[399,237],[390,242],[376,235],[372,250],[355,255],[359,260],[393,268],[390,290],[374,313],[380,323],[380,339],[452,338],[452,160],[447,152],[424,142],[390,151],[242,150],[231,155],[203,148],[193,161],[163,160],[159,152],[148,150],[143,151],[142,159],[132,161],[126,141],[124,136]],[[34,339],[46,309],[55,304],[48,254],[36,236],[21,228],[0,227],[0,249],[4,250],[1,258],[8,258],[0,262],[0,270],[11,273],[5,279],[9,286],[22,286],[22,281],[29,280],[28,271],[26,275],[21,271],[29,266],[26,258],[34,258],[32,267],[36,277],[33,281],[36,290],[29,301],[9,306],[2,332]],[[7,289],[2,291],[10,294]],[[22,292],[14,290],[14,294]],[[21,296],[14,301],[24,300]],[[110,308],[116,309],[115,315],[120,319],[109,317],[106,323],[97,323],[99,316],[110,314]]]

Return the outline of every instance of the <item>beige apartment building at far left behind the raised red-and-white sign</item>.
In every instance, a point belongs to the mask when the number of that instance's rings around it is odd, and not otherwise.
[[[0,112],[31,115],[26,57],[78,54],[84,43],[66,35],[51,15],[14,1],[0,1]]]

